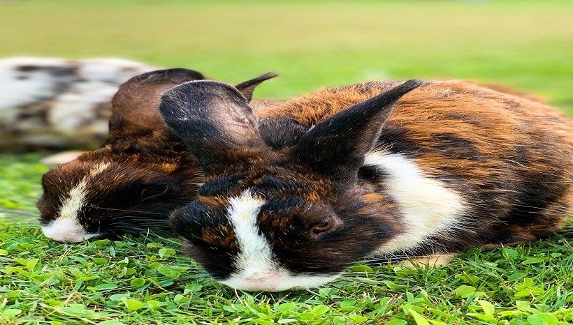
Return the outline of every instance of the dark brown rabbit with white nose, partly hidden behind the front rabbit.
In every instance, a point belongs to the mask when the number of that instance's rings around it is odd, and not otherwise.
[[[249,100],[268,73],[237,85]],[[37,206],[45,236],[61,242],[168,229],[168,216],[203,182],[196,158],[161,121],[161,95],[177,84],[204,80],[182,68],[131,78],[112,100],[109,134],[99,149],[48,171]],[[252,101],[263,107],[266,101]]]

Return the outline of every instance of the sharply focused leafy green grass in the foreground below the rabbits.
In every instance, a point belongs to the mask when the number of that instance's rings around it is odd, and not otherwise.
[[[46,241],[37,227],[1,227],[0,315],[6,323],[573,322],[573,248],[563,238],[470,250],[437,269],[358,264],[321,289],[254,295],[219,285],[177,254],[176,241],[61,245]]]

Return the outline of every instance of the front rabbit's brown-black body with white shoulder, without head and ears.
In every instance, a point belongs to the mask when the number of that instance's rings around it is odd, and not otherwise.
[[[267,107],[259,118],[263,126],[286,118],[307,130],[398,84],[324,89]],[[529,241],[563,226],[573,204],[573,123],[519,95],[440,81],[398,101],[360,172],[396,199],[410,228],[380,253]],[[266,138],[276,132],[261,128]],[[296,138],[300,130],[286,133]]]

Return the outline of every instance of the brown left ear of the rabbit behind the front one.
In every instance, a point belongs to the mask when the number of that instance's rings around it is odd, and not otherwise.
[[[177,84],[192,80],[205,80],[205,77],[194,70],[167,69],[144,73],[122,84],[113,96],[107,140],[167,130],[157,111],[161,95]]]

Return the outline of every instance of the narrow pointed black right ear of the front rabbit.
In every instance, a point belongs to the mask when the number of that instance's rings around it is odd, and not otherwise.
[[[409,80],[329,117],[300,139],[293,147],[294,156],[325,174],[356,176],[396,102],[421,84]]]

